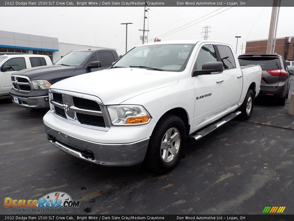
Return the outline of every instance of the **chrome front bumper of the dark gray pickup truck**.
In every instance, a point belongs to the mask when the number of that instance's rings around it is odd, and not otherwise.
[[[13,97],[18,99],[18,103],[16,103]],[[47,98],[47,101],[45,100]],[[22,98],[11,95],[12,102],[21,107],[28,107],[28,108],[49,108],[49,96],[41,96],[41,97],[29,97],[29,98]]]

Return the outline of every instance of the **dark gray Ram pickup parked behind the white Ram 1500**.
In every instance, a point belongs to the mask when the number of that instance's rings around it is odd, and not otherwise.
[[[28,68],[11,76],[13,103],[26,108],[49,108],[48,88],[60,80],[107,69],[119,59],[114,49],[85,49],[70,52],[55,64]]]

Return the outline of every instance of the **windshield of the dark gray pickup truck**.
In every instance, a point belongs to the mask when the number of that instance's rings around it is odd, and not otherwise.
[[[55,64],[79,66],[90,54],[92,54],[92,52],[70,52],[55,62]]]

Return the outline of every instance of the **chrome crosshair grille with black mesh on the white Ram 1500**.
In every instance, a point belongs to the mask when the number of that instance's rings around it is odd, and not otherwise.
[[[50,92],[50,94],[51,109],[54,114],[72,123],[106,128],[105,119],[107,117],[101,111],[101,109],[104,109],[102,103],[82,98],[85,97],[84,95],[78,97],[55,92]]]

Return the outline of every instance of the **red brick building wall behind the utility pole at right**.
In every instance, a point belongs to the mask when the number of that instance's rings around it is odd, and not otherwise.
[[[276,39],[275,52],[285,58],[285,60],[294,60],[294,37],[288,47],[288,53],[284,52],[285,38]],[[266,54],[267,40],[246,42],[246,54]]]

